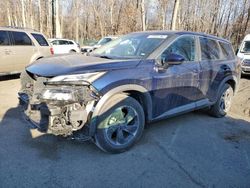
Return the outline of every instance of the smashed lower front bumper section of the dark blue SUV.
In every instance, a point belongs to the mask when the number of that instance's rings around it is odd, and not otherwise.
[[[69,136],[86,125],[88,112],[80,103],[30,103],[29,96],[19,93],[20,105],[26,120],[40,131]]]

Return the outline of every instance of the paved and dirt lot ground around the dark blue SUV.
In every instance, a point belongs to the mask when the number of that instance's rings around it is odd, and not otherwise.
[[[148,126],[130,151],[32,137],[17,107],[19,80],[0,82],[0,187],[249,187],[250,78],[229,116],[194,112]],[[34,135],[34,134],[33,134]]]

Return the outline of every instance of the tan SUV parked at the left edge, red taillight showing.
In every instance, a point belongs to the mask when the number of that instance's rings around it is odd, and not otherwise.
[[[53,54],[46,37],[31,29],[0,27],[0,75],[17,74]]]

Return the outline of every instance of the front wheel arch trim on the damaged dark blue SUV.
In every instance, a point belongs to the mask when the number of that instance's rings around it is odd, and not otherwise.
[[[94,107],[93,114],[91,115],[90,121],[90,136],[94,136],[97,126],[97,118],[98,114],[101,111],[102,106],[105,102],[110,99],[112,96],[116,94],[124,93],[130,97],[136,99],[141,105],[145,113],[146,121],[150,121],[152,119],[152,99],[146,88],[136,84],[128,84],[118,86],[116,88],[111,89],[106,94],[104,94],[101,99],[97,102]]]

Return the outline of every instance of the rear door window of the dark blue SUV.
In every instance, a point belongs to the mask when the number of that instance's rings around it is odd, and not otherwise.
[[[215,40],[200,38],[200,44],[202,60],[220,59],[220,49]]]

